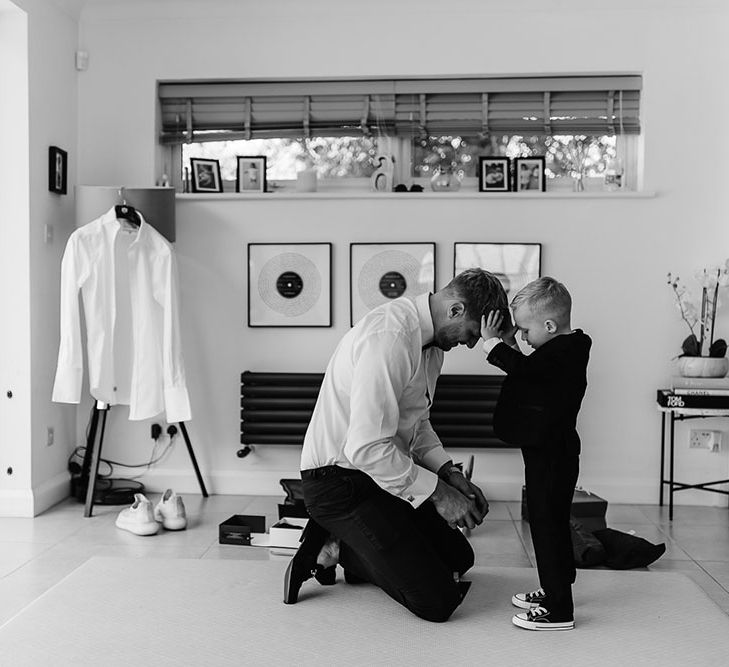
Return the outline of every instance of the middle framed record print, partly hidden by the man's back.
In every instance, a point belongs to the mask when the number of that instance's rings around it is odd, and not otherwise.
[[[350,323],[400,296],[435,291],[435,243],[351,243]]]

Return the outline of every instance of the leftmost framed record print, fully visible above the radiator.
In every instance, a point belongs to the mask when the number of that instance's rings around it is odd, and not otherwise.
[[[248,244],[248,326],[332,326],[331,243]]]

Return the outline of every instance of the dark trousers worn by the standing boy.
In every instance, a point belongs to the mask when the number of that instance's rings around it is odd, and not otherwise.
[[[543,603],[554,620],[574,617],[575,561],[570,533],[572,496],[580,459],[548,447],[522,449],[529,528],[537,557]]]

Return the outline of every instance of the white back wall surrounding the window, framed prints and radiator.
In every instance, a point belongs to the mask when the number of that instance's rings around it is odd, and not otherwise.
[[[298,450],[258,447],[239,460],[238,376],[244,369],[319,371],[348,328],[350,242],[435,241],[438,282],[454,241],[538,241],[543,272],[574,296],[574,324],[594,339],[581,415],[581,483],[611,502],[658,497],[655,390],[671,374],[686,332],[665,285],[729,255],[727,115],[729,10],[720,0],[612,3],[577,0],[368,3],[156,2],[103,4],[81,17],[79,181],[151,185],[155,81],[175,78],[639,72],[644,76],[645,188],[650,199],[393,199],[179,201],[176,249],[183,341],[193,402],[193,445],[210,490],[280,494]],[[688,54],[688,55],[687,55]],[[686,130],[677,132],[687,118]],[[705,131],[704,128],[706,128]],[[157,160],[157,162],[155,162]],[[334,243],[334,327],[246,327],[245,244]],[[726,313],[718,330],[728,335]],[[57,336],[52,328],[49,336]],[[477,351],[452,352],[446,372],[488,371]],[[88,403],[90,405],[90,403]],[[87,410],[78,413],[82,439]],[[105,454],[146,460],[149,423],[112,410]],[[727,428],[726,422],[720,426]],[[727,454],[689,452],[678,431],[684,481],[716,478]],[[463,455],[457,453],[457,458]],[[723,472],[719,476],[726,476]],[[492,498],[516,498],[516,452],[480,452],[475,476]],[[151,489],[193,492],[184,447],[145,476]],[[692,495],[693,494],[693,495]],[[682,502],[712,503],[689,492]]]

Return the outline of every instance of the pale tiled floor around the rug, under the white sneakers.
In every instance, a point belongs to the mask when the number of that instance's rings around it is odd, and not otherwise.
[[[153,502],[157,495],[149,494]],[[92,556],[131,558],[269,559],[267,549],[218,544],[218,524],[232,514],[263,514],[276,519],[278,497],[184,496],[189,527],[137,537],[114,520],[121,507],[96,506],[84,518],[83,506],[66,500],[35,519],[0,518],[0,625]],[[650,542],[666,543],[666,553],[650,570],[679,571],[691,577],[729,614],[729,509],[610,505],[611,528]],[[492,502],[486,522],[471,534],[477,565],[530,567],[534,550],[520,505]],[[536,579],[535,579],[536,584]],[[536,586],[535,586],[536,587]],[[272,592],[278,595],[279,591]],[[579,605],[579,573],[575,588]]]

